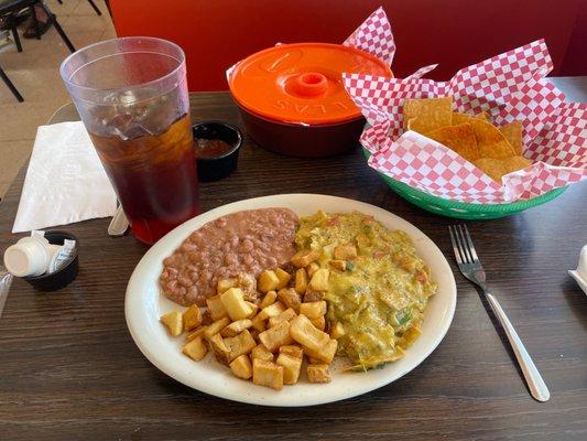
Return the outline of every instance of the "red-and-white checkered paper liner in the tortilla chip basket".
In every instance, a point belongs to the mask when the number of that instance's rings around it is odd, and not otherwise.
[[[565,103],[563,93],[544,80],[552,61],[543,40],[465,67],[449,82],[422,78],[435,67],[403,79],[344,75],[347,92],[371,125],[361,136],[373,153],[370,166],[425,193],[481,204],[528,200],[587,179],[587,105]],[[404,132],[405,99],[448,95],[454,110],[486,111],[497,126],[522,120],[524,155],[535,163],[503,176],[499,185],[450,149]]]

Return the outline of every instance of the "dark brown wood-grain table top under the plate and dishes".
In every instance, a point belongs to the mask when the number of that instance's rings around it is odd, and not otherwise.
[[[556,78],[587,100],[587,77]],[[226,93],[192,95],[194,121],[241,125]],[[52,122],[76,119],[67,106]],[[25,170],[0,204],[0,250]],[[65,229],[80,240],[79,275],[67,288],[35,292],[15,280],[0,319],[2,440],[585,440],[587,297],[568,277],[587,243],[587,184],[504,219],[469,222],[493,293],[534,358],[552,398],[534,401],[483,303],[457,270],[454,219],[396,196],[357,150],[303,160],[247,140],[230,178],[200,185],[204,211],[275,193],[324,193],[383,207],[428,235],[458,286],[455,319],[436,351],[403,378],[363,396],[311,408],[264,408],[193,390],[157,370],[124,322],[127,281],[146,247],[112,239],[110,219]]]

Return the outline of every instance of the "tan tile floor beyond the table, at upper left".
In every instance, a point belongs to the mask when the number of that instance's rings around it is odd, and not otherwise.
[[[98,17],[87,0],[45,0],[76,49],[116,36],[102,0]],[[23,29],[19,29],[22,35]],[[0,50],[0,64],[24,97],[18,103],[0,82],[0,197],[8,190],[33,147],[36,127],[69,101],[59,77],[59,65],[69,54],[55,29],[41,40],[21,37],[23,52],[14,45]]]

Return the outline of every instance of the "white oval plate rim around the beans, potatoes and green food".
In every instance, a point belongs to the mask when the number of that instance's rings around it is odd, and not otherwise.
[[[372,215],[390,229],[403,229],[414,241],[418,255],[432,270],[438,283],[424,314],[422,335],[406,351],[403,358],[381,369],[367,373],[333,373],[328,384],[309,384],[301,379],[294,386],[276,391],[254,386],[232,376],[230,369],[208,356],[193,362],[182,354],[183,337],[171,337],[159,318],[182,306],[167,300],[159,289],[163,259],[171,255],[195,229],[209,220],[242,209],[286,207],[298,215],[309,215],[318,209],[327,213],[359,211]],[[373,205],[343,197],[318,194],[281,194],[239,201],[204,213],[180,225],[159,240],[143,256],[134,269],[124,303],[127,324],[137,346],[159,369],[177,381],[217,397],[262,406],[312,406],[333,402],[366,394],[396,380],[420,365],[441,343],[455,313],[457,295],[453,272],[443,254],[420,229],[409,222]]]

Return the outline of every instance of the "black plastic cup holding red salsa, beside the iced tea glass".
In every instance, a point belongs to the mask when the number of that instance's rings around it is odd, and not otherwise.
[[[218,181],[237,169],[239,150],[242,144],[242,135],[237,127],[222,121],[202,121],[192,126],[192,132],[194,140],[218,139],[230,146],[230,150],[218,157],[196,158],[198,181]]]

